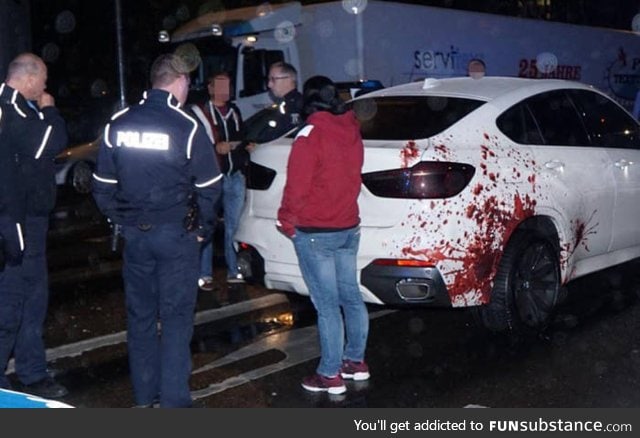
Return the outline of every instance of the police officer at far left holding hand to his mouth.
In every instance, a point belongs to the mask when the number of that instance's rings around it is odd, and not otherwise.
[[[67,132],[46,83],[42,59],[23,53],[0,85],[0,233],[9,257],[0,279],[0,387],[8,386],[4,370],[13,349],[21,390],[58,398],[67,389],[49,377],[42,332],[49,298],[47,231],[56,195],[53,158],[66,146]]]

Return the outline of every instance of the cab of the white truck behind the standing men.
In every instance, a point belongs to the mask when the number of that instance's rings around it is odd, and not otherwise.
[[[267,88],[269,66],[284,61],[298,66],[295,26],[300,3],[247,7],[208,13],[159,40],[170,50],[193,47],[201,62],[192,78],[191,101],[207,98],[207,78],[225,70],[233,78],[232,100],[248,118],[271,104]]]

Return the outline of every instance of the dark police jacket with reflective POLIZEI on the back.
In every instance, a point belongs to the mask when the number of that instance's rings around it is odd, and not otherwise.
[[[196,194],[200,234],[211,233],[222,178],[202,126],[153,89],[106,125],[94,172],[100,210],[121,225],[182,223]]]

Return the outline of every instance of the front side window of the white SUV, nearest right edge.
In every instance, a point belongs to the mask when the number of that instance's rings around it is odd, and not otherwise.
[[[599,93],[569,90],[595,146],[640,149],[640,125],[633,117]]]

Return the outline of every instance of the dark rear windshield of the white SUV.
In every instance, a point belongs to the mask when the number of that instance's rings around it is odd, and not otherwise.
[[[366,140],[432,137],[484,102],[443,96],[386,96],[351,103]]]

